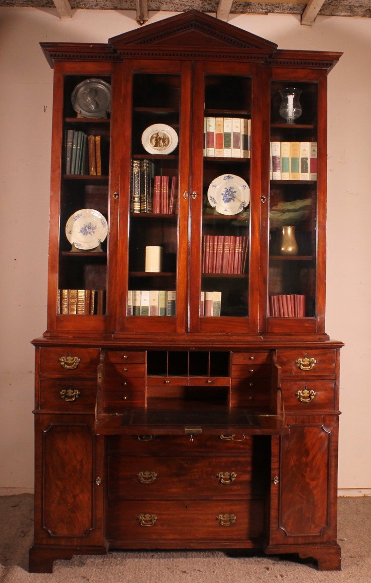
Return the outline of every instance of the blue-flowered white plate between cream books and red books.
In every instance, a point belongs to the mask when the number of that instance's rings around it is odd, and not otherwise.
[[[250,202],[250,189],[241,176],[222,174],[211,182],[207,198],[221,215],[238,215]]]

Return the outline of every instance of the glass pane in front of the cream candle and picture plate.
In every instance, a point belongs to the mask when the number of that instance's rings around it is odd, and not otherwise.
[[[181,77],[135,73],[128,316],[175,316]]]

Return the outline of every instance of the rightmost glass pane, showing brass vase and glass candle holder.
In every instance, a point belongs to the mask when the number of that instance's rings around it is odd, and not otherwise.
[[[316,101],[316,83],[271,83],[271,317],[316,315]]]

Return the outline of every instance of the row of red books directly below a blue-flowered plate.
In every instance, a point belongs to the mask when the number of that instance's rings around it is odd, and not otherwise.
[[[245,273],[249,237],[203,235],[203,273]]]

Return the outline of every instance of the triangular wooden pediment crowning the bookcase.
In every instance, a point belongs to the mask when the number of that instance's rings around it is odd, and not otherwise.
[[[114,50],[252,52],[271,55],[277,45],[197,10],[171,16],[109,39]]]

